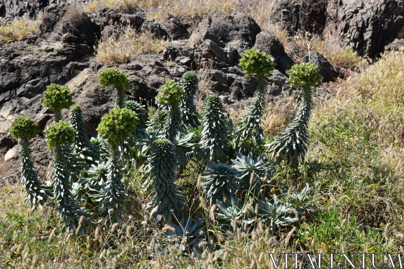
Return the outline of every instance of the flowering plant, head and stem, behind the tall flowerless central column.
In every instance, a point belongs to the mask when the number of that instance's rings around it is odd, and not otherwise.
[[[182,112],[180,102],[184,99],[184,89],[174,80],[164,84],[157,94],[157,102],[160,105],[169,105],[170,109],[164,120],[162,137],[174,142],[179,132],[185,132],[182,127]]]

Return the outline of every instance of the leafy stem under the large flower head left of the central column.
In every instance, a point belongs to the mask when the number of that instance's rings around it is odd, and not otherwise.
[[[110,221],[110,224],[121,223],[122,219],[119,213],[127,216],[125,207],[130,208],[129,196],[122,184],[121,154],[117,147],[110,148],[110,158],[107,163],[108,175],[105,186],[104,198],[100,214],[107,211],[104,223]]]

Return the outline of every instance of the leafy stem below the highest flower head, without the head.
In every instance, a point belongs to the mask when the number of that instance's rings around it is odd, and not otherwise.
[[[251,142],[262,144],[263,129],[261,118],[267,105],[267,82],[265,77],[258,78],[258,87],[254,93],[247,112],[235,130],[235,148],[238,151],[246,152],[252,148]],[[245,141],[250,142],[245,142]]]

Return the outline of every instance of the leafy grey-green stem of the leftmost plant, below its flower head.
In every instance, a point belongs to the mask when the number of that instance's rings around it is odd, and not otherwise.
[[[21,165],[20,183],[27,191],[26,200],[29,207],[35,209],[38,205],[43,204],[48,196],[51,195],[51,192],[39,182],[38,175],[34,171],[28,139],[20,140],[19,159]]]

